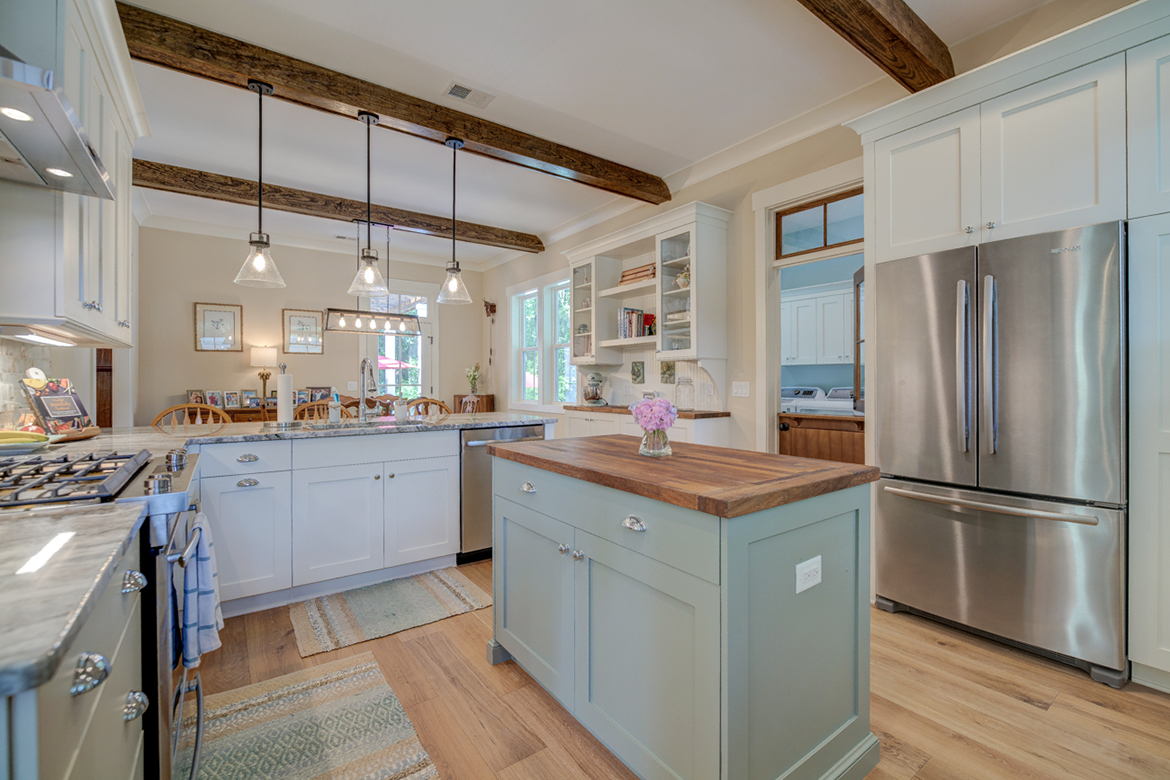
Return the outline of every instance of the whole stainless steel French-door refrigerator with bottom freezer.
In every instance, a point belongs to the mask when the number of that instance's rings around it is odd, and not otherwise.
[[[1126,662],[1117,222],[878,265],[878,606]]]

